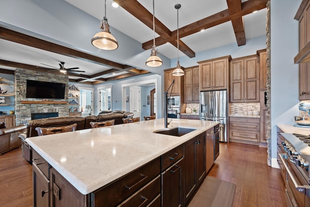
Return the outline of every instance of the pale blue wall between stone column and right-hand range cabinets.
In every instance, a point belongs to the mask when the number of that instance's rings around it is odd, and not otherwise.
[[[299,114],[298,21],[294,16],[301,0],[271,0],[271,156],[277,165],[277,124],[293,124]]]

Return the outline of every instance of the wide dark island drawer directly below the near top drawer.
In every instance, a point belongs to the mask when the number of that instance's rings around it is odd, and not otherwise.
[[[118,207],[145,207],[160,195],[160,175],[130,196]]]

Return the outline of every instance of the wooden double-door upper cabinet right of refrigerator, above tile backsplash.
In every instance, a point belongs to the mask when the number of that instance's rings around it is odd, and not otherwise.
[[[230,67],[230,102],[259,102],[257,55],[233,59]]]

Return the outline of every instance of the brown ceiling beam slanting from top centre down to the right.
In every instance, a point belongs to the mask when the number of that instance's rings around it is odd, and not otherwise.
[[[146,26],[148,26],[150,29],[153,30],[153,14],[150,13],[145,7],[143,7],[137,0],[114,0],[114,1],[122,8],[124,8],[127,12],[129,12],[137,19],[139,19],[143,24],[145,24]],[[163,23],[161,23],[156,17],[154,18],[154,22],[155,22],[155,32],[157,34],[159,34],[164,39],[171,38],[171,31]],[[152,42],[151,48],[153,48],[153,39],[151,40],[151,42]],[[174,42],[175,40],[172,40],[171,44]],[[155,40],[155,45],[156,44],[157,43]],[[177,48],[176,44],[172,45]],[[186,46],[186,44],[181,40],[179,40],[179,49],[188,57],[190,58],[195,57],[195,52],[188,46]]]

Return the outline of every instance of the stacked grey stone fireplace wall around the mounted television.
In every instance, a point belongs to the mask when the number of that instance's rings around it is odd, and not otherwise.
[[[67,104],[22,104],[21,101],[23,100],[42,101],[42,99],[38,98],[26,98],[27,80],[65,83],[66,90],[64,99],[47,99],[47,101],[67,101]],[[17,68],[14,76],[16,126],[24,125],[27,121],[31,120],[31,113],[58,112],[59,116],[68,116],[68,82],[68,77],[64,75],[47,74],[44,72]]]

